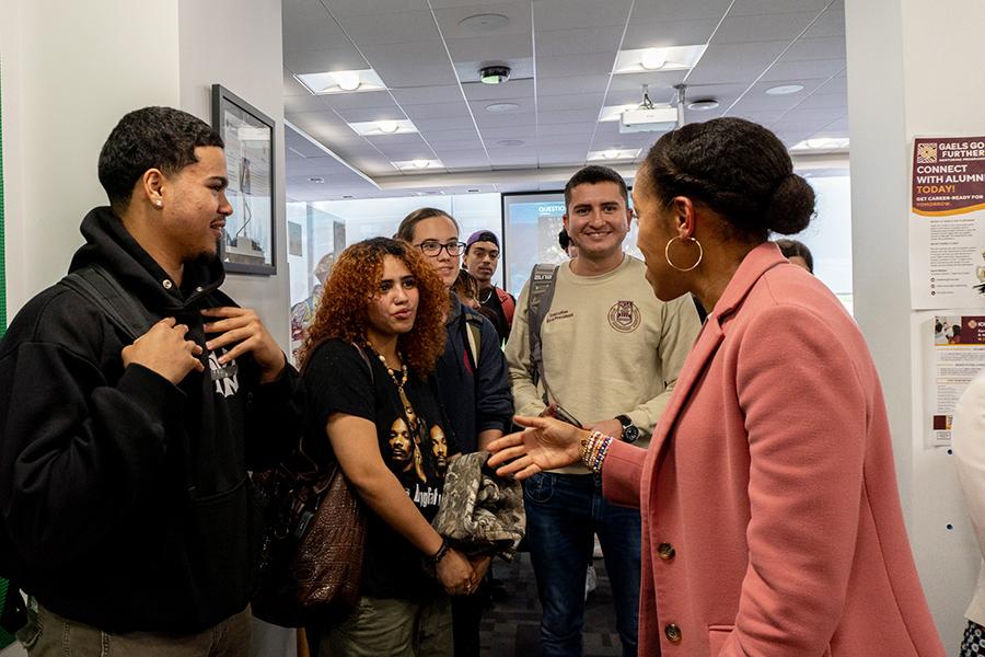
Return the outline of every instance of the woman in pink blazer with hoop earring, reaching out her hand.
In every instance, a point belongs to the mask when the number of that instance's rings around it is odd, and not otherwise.
[[[528,417],[491,463],[523,479],[582,460],[640,507],[640,655],[945,655],[865,341],[767,242],[814,208],[783,143],[739,118],[684,126],[633,196],[657,297],[711,309],[649,449]]]

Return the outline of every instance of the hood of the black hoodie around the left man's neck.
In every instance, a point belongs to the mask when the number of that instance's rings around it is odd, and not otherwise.
[[[225,279],[218,257],[186,263],[182,288],[127,232],[123,220],[106,206],[91,210],[82,220],[85,244],[72,256],[69,272],[97,263],[136,291],[151,310],[170,314],[216,290]]]

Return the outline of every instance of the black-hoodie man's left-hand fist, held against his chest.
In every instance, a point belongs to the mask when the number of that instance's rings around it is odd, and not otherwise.
[[[201,347],[185,339],[188,326],[177,324],[174,318],[165,318],[127,345],[120,351],[124,367],[136,364],[161,374],[174,385],[182,382],[192,370],[205,371],[198,359]]]

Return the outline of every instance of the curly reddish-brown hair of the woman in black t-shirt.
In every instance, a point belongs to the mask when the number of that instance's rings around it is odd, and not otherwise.
[[[427,376],[434,369],[438,357],[444,353],[448,291],[424,255],[406,242],[389,238],[357,242],[338,256],[301,349],[302,368],[315,347],[326,339],[340,338],[357,344],[366,341],[367,304],[378,293],[386,255],[398,257],[407,265],[420,292],[414,327],[397,337],[397,345],[407,359],[407,367],[415,373]]]

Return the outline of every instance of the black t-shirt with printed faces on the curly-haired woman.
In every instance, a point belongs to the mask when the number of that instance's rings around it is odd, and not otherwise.
[[[371,369],[370,369],[371,368]],[[404,392],[376,355],[362,347],[331,339],[320,345],[304,368],[308,396],[308,441],[325,450],[325,427],[334,413],[363,417],[376,425],[376,440],[384,463],[430,522],[438,512],[448,459],[454,441],[448,440],[445,420],[433,387],[410,372]],[[397,380],[401,373],[397,373]],[[420,552],[367,509],[366,553],[360,592],[373,598],[419,598],[441,590],[422,567]]]

